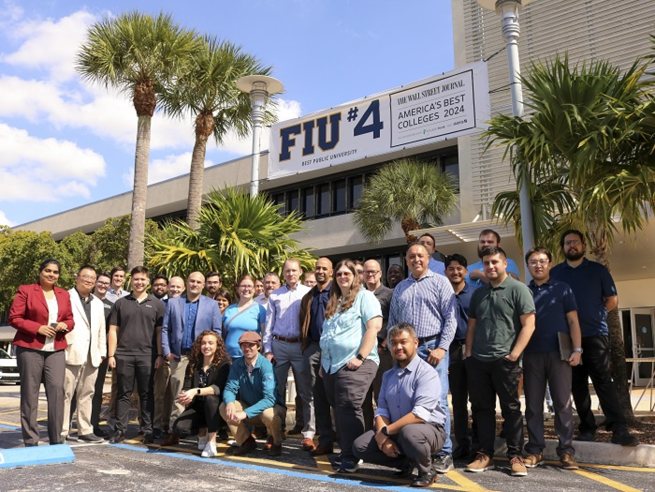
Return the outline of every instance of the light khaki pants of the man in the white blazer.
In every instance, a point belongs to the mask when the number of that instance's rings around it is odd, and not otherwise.
[[[93,432],[91,425],[91,408],[93,394],[96,391],[98,367],[93,367],[90,354],[82,365],[66,364],[64,375],[64,424],[62,440],[68,436],[71,422],[71,400],[77,390],[77,435],[84,436]]]

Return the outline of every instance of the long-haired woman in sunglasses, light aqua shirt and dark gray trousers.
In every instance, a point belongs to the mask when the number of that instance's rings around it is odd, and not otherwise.
[[[327,400],[334,407],[341,447],[339,472],[352,473],[358,470],[352,443],[364,434],[362,403],[380,363],[377,333],[382,328],[382,308],[371,291],[362,289],[351,260],[337,263],[335,277],[320,340],[321,370]]]

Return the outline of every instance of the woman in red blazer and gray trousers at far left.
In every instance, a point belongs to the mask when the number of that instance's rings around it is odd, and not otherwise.
[[[48,400],[48,439],[62,440],[64,423],[65,335],[73,329],[68,292],[55,287],[61,265],[48,258],[39,266],[39,281],[21,285],[9,310],[16,329],[14,345],[20,373],[20,425],[26,446],[39,445],[39,389],[45,383]]]

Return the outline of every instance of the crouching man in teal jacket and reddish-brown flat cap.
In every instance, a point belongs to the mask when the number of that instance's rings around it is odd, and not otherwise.
[[[275,382],[272,363],[259,355],[261,337],[246,331],[239,338],[244,356],[232,363],[223,390],[221,417],[225,419],[238,447],[230,448],[233,456],[246,455],[257,449],[248,424],[266,426],[271,441],[264,445],[269,456],[282,454],[282,417],[286,414]],[[240,400],[236,400],[237,394]]]

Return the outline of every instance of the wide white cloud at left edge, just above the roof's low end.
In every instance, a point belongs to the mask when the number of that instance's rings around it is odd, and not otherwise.
[[[57,201],[90,197],[105,174],[102,155],[74,142],[36,138],[27,131],[0,123],[0,199]]]

